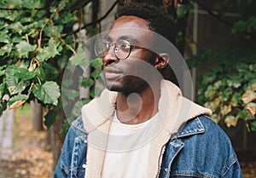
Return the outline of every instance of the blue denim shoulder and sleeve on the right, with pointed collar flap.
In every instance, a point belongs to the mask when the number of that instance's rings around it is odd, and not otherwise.
[[[160,172],[167,177],[242,178],[230,139],[206,116],[190,120],[166,146]]]

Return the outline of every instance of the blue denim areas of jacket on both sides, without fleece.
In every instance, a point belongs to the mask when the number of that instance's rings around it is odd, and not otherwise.
[[[67,133],[55,178],[84,178],[87,135],[82,117],[77,118]],[[190,119],[177,135],[171,136],[158,177],[240,178],[242,175],[228,136],[210,118],[201,115]]]

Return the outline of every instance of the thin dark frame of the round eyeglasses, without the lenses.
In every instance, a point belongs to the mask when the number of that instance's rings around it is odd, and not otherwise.
[[[113,46],[113,54],[115,55],[115,57],[119,60],[125,60],[127,59],[130,55],[131,55],[131,49],[147,49],[145,47],[142,47],[142,46],[137,46],[137,45],[133,45],[131,44],[129,41],[125,40],[125,39],[119,39],[117,42],[110,42],[108,41],[107,39],[104,39],[104,38],[100,38],[98,40],[96,40],[96,43],[100,40],[105,40],[106,42],[108,42],[108,45],[109,47],[106,48],[106,50],[104,52],[102,52],[101,54],[104,54],[106,53],[107,51],[109,51],[109,49]],[[128,51],[128,55],[125,57],[125,58],[120,58],[116,53],[118,53],[118,51],[115,51],[115,49],[120,49],[118,46],[117,46],[117,43],[119,43],[120,41],[124,41],[125,44],[128,44],[129,45],[129,51]],[[95,53],[98,57],[104,57],[104,55],[100,55],[100,54],[97,54],[96,52],[96,43],[95,43]],[[147,49],[149,50],[149,49]]]

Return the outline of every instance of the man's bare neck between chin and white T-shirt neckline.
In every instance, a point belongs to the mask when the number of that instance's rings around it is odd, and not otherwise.
[[[117,95],[117,116],[121,123],[137,124],[152,118],[158,112],[160,86],[156,89],[148,87],[140,94]]]

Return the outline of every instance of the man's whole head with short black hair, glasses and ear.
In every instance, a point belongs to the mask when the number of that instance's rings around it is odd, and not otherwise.
[[[166,23],[160,9],[146,3],[131,3],[121,9],[98,45],[103,51],[98,55],[103,57],[108,89],[130,95],[160,84],[160,72],[165,70],[169,55],[154,51],[154,39],[157,33],[171,37],[171,22]]]

